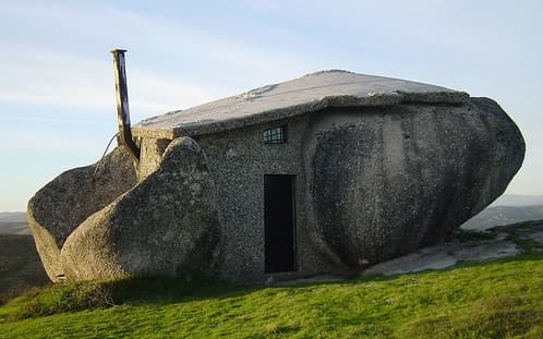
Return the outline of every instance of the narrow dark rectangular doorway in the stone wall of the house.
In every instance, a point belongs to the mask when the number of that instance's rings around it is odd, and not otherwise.
[[[295,270],[294,175],[264,175],[264,257],[267,274]]]

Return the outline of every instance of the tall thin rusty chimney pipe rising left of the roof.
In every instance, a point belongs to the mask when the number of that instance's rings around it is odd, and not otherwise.
[[[132,138],[130,126],[129,93],[126,89],[126,72],[124,68],[124,49],[113,49],[114,86],[117,90],[117,120],[119,124],[119,140],[130,156],[137,164],[140,147]]]

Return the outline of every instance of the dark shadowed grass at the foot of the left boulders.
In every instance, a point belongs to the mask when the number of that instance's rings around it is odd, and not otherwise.
[[[13,300],[10,320],[116,305],[166,305],[207,299],[242,296],[261,287],[240,287],[210,279],[131,277],[117,280],[59,282],[32,289]]]

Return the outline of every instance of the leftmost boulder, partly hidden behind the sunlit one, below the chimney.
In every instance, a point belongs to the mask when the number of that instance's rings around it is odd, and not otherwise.
[[[64,277],[60,250],[83,220],[109,205],[136,183],[130,156],[117,147],[101,161],[55,178],[28,202],[28,225],[47,275]]]

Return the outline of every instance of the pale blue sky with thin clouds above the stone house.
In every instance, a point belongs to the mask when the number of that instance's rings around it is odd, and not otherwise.
[[[100,158],[114,48],[133,122],[329,69],[491,97],[527,143],[506,193],[543,194],[541,0],[0,0],[0,210]]]

